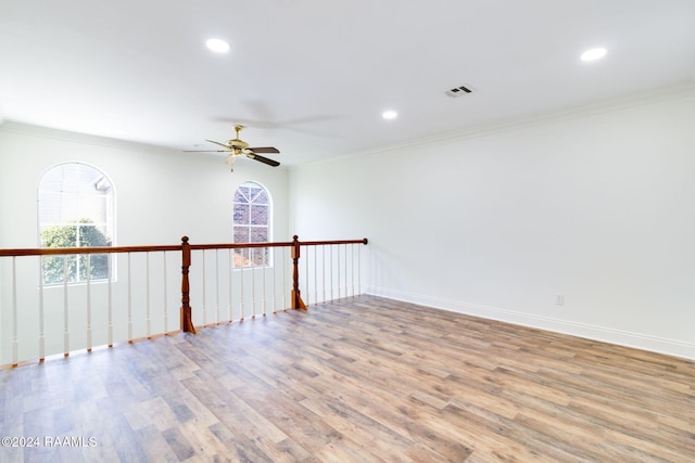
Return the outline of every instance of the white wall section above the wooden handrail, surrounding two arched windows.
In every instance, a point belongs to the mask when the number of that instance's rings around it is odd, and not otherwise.
[[[116,191],[117,245],[228,242],[231,198],[254,180],[275,206],[275,237],[287,240],[287,171],[239,160],[233,173],[224,158],[16,124],[0,126],[0,247],[37,245],[36,201],[41,175],[64,162],[93,165]]]

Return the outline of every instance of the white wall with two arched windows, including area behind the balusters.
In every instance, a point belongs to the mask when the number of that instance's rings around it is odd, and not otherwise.
[[[248,160],[248,162],[247,162]],[[97,137],[80,136],[56,130],[5,124],[0,126],[0,248],[37,247],[37,187],[42,173],[59,163],[90,164],[112,180],[116,194],[115,245],[176,245],[184,235],[191,243],[229,243],[232,240],[231,202],[235,190],[244,181],[253,180],[270,192],[274,214],[273,239],[291,241],[288,231],[288,172],[241,159],[233,173],[224,158],[203,153],[181,153],[135,143]],[[180,253],[179,253],[180,254]],[[17,292],[21,345],[20,360],[38,356],[38,260],[17,259]],[[146,286],[142,255],[134,255],[132,319],[134,336],[144,336],[143,313]],[[161,256],[152,258],[154,283],[149,296],[153,311],[166,306],[169,331],[178,329],[180,306],[180,255],[168,257],[168,300],[164,301]],[[214,271],[214,256],[207,256],[206,267]],[[200,268],[201,256],[193,256]],[[117,340],[127,339],[125,325],[126,300],[125,257],[118,258],[118,281],[114,283],[114,317],[118,317]],[[224,268],[224,262],[223,266]],[[227,273],[225,273],[227,274]],[[10,363],[12,356],[12,283],[11,262],[0,259],[0,364]],[[200,272],[191,271],[191,286],[200,286]],[[227,280],[225,278],[225,280]],[[210,282],[208,282],[210,284]],[[104,284],[92,287],[94,344],[105,343],[105,309],[108,300]],[[215,294],[208,287],[208,305]],[[63,296],[60,288],[45,292],[47,350],[62,352]],[[202,323],[201,291],[191,293],[195,310],[194,322]],[[228,296],[231,298],[231,294]],[[236,296],[238,297],[238,295]],[[70,324],[71,350],[86,344],[85,287],[71,287]],[[249,309],[250,310],[250,309]],[[238,314],[236,314],[238,317]],[[163,326],[163,314],[153,314],[153,324]],[[156,319],[156,320],[155,320]],[[212,314],[206,319],[211,321]],[[154,331],[153,334],[161,332]],[[28,340],[27,340],[28,339]]]

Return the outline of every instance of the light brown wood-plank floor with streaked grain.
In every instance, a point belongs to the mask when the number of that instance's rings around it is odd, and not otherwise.
[[[695,362],[371,296],[3,370],[0,390],[1,435],[40,439],[2,462],[695,461]]]

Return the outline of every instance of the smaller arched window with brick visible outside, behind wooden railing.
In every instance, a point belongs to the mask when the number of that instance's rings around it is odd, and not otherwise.
[[[257,183],[242,183],[233,198],[233,242],[270,241],[270,195]],[[236,249],[235,267],[269,266],[267,247]]]

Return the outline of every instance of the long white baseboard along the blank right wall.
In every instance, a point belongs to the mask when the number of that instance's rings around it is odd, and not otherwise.
[[[468,316],[481,317],[490,320],[498,320],[502,322],[514,323],[522,326],[530,326],[556,333],[569,334],[587,339],[594,339],[626,347],[634,347],[636,349],[695,360],[695,344],[693,343],[666,339],[641,333],[631,333],[621,330],[614,330],[603,326],[594,326],[584,323],[554,319],[551,317],[517,312],[514,310],[501,309],[497,307],[462,303],[458,300],[443,299],[414,293],[404,293],[382,287],[368,287],[366,293],[372,296],[402,300],[404,303],[417,304],[435,309],[448,310],[452,312],[465,313]]]

